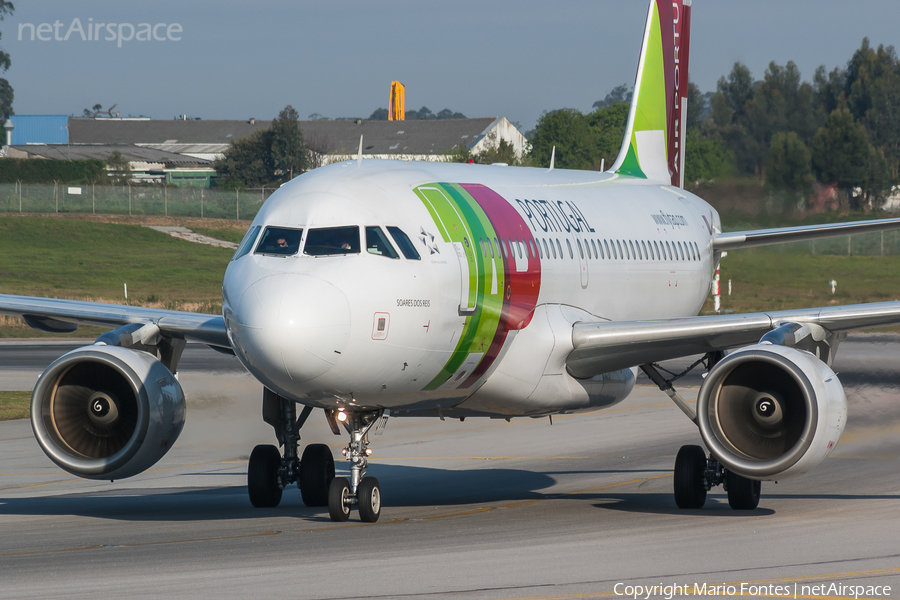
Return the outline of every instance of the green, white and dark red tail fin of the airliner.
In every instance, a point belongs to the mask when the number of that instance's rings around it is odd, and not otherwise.
[[[650,2],[614,173],[684,187],[691,1]]]

